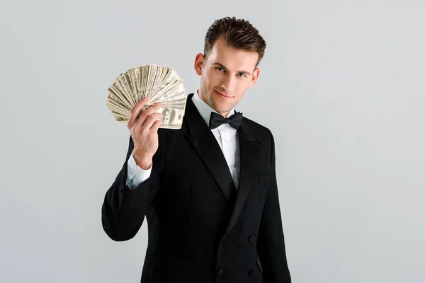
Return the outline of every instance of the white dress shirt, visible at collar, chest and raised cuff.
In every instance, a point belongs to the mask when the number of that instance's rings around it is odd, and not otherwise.
[[[203,117],[203,120],[207,125],[210,123],[210,115],[211,112],[216,112],[214,109],[210,107],[207,103],[205,103],[198,92],[196,92],[192,97],[193,104],[198,109],[200,115]],[[226,117],[230,117],[234,114],[234,109],[230,110],[229,115]],[[217,139],[217,143],[222,150],[223,155],[227,161],[227,166],[229,166],[229,171],[232,174],[234,187],[239,187],[239,171],[240,171],[240,161],[239,161],[239,135],[237,134],[236,129],[234,129],[229,124],[222,124],[219,127],[211,130],[212,134],[214,134],[215,139]],[[145,182],[147,178],[149,178],[150,173],[152,171],[152,165],[149,169],[144,170],[137,166],[134,157],[130,154],[130,158],[128,158],[128,170],[127,170],[127,185],[130,189],[134,189],[141,183]]]

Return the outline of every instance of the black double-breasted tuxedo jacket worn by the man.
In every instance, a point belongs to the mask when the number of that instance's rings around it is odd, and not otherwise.
[[[123,168],[106,192],[104,231],[127,241],[147,219],[141,282],[290,283],[276,185],[273,135],[246,117],[239,127],[235,189],[220,146],[187,98],[181,129],[159,129],[150,177],[126,187]]]

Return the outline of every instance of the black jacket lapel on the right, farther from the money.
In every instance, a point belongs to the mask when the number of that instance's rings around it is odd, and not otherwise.
[[[249,190],[253,183],[256,181],[256,162],[259,160],[259,143],[255,141],[254,134],[251,129],[246,125],[245,120],[239,127],[239,152],[240,152],[240,173],[239,173],[239,189],[234,203],[232,214],[230,215],[229,222],[223,237],[234,226],[235,222],[241,214],[242,207]]]

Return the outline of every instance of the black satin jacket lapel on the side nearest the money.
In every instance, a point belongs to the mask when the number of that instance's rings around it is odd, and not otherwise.
[[[226,200],[232,200],[235,188],[229,166],[227,166],[217,139],[193,104],[192,97],[193,93],[187,97],[186,112],[183,118],[186,127],[185,137],[210,171]]]

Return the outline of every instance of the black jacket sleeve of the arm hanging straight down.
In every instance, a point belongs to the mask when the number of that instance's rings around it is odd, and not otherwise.
[[[263,271],[264,283],[290,283],[290,271],[285,251],[282,217],[276,182],[276,157],[271,134],[271,175],[266,201],[261,216],[257,251]]]

